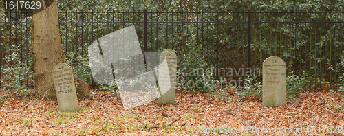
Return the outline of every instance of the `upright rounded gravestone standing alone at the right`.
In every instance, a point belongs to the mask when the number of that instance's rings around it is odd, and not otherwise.
[[[263,62],[263,106],[286,105],[286,63],[270,56]]]

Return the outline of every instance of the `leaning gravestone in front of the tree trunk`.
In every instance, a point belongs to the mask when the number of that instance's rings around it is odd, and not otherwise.
[[[79,111],[72,67],[58,63],[52,69],[59,111]]]

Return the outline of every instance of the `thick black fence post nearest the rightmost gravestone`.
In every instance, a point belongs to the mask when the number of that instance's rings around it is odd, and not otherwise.
[[[251,10],[248,9],[248,22],[247,22],[247,68],[251,68]]]

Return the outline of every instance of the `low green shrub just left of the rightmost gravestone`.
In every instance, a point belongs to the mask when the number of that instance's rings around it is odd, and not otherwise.
[[[255,95],[256,98],[261,98],[261,95],[263,93],[261,83],[257,82],[257,77],[248,76],[248,78],[244,79],[244,87],[237,86],[236,88],[236,94],[241,99],[246,99],[250,95]]]

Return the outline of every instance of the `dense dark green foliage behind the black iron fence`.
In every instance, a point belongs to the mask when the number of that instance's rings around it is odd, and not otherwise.
[[[92,1],[92,0],[58,0],[58,10],[66,11],[59,14],[60,34],[66,60],[73,67],[81,79],[91,82],[88,67],[87,47],[96,39],[120,30],[120,28],[135,25],[143,49],[143,24],[142,23],[80,23],[80,22],[143,22],[144,9],[150,11],[224,11],[230,13],[149,13],[148,21],[156,22],[246,22],[246,12],[268,11],[341,11],[344,3],[341,0],[318,1]],[[87,13],[77,14],[71,11],[138,11],[129,13]],[[12,14],[17,16],[17,14]],[[11,15],[11,16],[12,16]],[[8,21],[6,14],[0,14],[1,21]],[[254,22],[273,21],[343,21],[341,14],[336,13],[252,13]],[[21,21],[30,22],[28,19]],[[203,69],[213,67],[238,67],[245,62],[247,48],[247,25],[244,23],[196,23],[193,25],[193,38],[190,40],[190,30],[186,29],[191,23],[149,23],[147,25],[148,49],[162,51],[173,49],[178,54],[178,63],[182,64],[182,55],[190,52],[190,43],[202,51],[201,56],[207,63]],[[337,82],[343,83],[343,67],[338,64],[343,60],[343,23],[254,23],[252,24],[252,65],[259,66],[268,56],[280,56],[286,60],[289,69],[295,73],[303,73],[305,78],[312,82]],[[19,32],[20,27],[23,32]],[[30,23],[0,25],[1,34],[5,37],[21,37],[24,43],[22,49],[30,52]],[[16,30],[17,29],[17,30]],[[25,35],[26,34],[26,35]],[[11,41],[12,39],[7,39]],[[3,41],[1,41],[3,42]],[[11,43],[12,44],[12,43]],[[6,45],[7,48],[10,46]],[[196,51],[197,49],[193,49]],[[342,56],[342,57],[341,57]],[[235,59],[233,59],[235,58]],[[198,58],[197,58],[198,59]],[[233,63],[228,63],[235,60]],[[189,73],[188,73],[189,74]],[[207,74],[206,74],[207,75]],[[206,76],[197,77],[197,80]],[[228,77],[224,77],[228,78]],[[196,79],[194,79],[196,80]],[[210,83],[211,80],[208,80]],[[202,84],[198,84],[202,85]],[[343,89],[343,86],[341,86]]]

